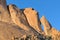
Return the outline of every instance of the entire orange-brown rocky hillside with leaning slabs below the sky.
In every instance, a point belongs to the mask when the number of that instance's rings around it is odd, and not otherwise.
[[[33,8],[19,9],[0,0],[0,40],[60,40],[60,32]]]

